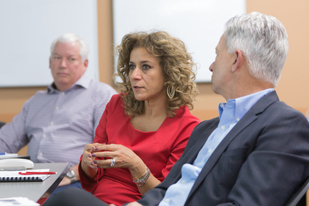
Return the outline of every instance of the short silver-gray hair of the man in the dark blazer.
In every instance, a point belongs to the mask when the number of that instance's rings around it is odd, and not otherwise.
[[[241,50],[250,74],[277,86],[289,49],[286,29],[278,19],[259,12],[235,16],[227,21],[224,35],[228,53]]]

